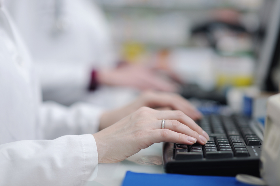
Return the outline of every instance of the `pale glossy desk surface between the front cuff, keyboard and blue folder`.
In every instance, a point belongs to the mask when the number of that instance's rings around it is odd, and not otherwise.
[[[122,162],[98,164],[97,170],[94,171],[86,186],[119,186],[122,184],[126,171],[164,173],[162,143],[142,149]]]

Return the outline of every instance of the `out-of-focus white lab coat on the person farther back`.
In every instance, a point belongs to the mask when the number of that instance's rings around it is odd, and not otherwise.
[[[109,28],[92,0],[7,3],[40,71],[44,100],[85,100],[91,70],[116,66]]]

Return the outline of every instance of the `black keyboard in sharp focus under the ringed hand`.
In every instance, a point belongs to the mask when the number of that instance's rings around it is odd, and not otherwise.
[[[262,141],[243,116],[205,116],[198,125],[210,140],[205,145],[164,143],[163,164],[167,173],[190,175],[260,176]]]

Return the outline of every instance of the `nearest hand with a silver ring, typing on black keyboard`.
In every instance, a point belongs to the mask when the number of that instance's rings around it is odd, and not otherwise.
[[[165,119],[164,129],[161,129]],[[98,163],[114,163],[154,143],[173,142],[204,145],[209,136],[182,111],[157,111],[141,107],[117,123],[93,134]]]

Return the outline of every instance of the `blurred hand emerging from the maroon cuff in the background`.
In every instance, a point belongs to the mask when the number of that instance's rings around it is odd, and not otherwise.
[[[97,81],[111,86],[128,86],[139,90],[176,92],[174,82],[165,80],[152,69],[140,65],[124,65],[112,70],[98,72]]]

